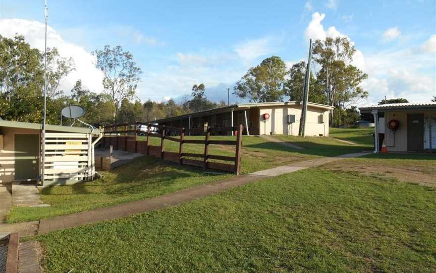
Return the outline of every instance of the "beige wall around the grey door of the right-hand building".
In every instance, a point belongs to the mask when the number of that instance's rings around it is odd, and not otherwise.
[[[407,114],[408,113],[423,113],[426,117],[436,116],[436,111],[386,111],[385,112],[385,144],[388,152],[406,152],[407,151]],[[398,129],[391,131],[388,129],[388,122],[392,119],[398,120],[400,123]],[[395,137],[395,140],[394,140]],[[432,137],[434,138],[434,136]]]

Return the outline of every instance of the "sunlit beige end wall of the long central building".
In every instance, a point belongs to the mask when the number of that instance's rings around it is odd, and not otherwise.
[[[298,135],[300,127],[301,107],[299,105],[286,105],[275,107],[259,107],[259,127],[260,134],[270,134],[272,131],[275,134]],[[263,120],[263,114],[268,113],[269,119],[266,122]],[[295,115],[295,122],[288,124],[287,116]],[[323,122],[320,122],[320,116],[323,117]],[[306,135],[324,135],[329,136],[329,111],[308,106],[306,118]]]

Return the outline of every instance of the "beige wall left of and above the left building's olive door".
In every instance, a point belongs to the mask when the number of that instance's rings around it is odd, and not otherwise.
[[[3,134],[3,148],[0,147],[0,183],[15,179],[15,134],[39,134],[39,130],[0,127]]]

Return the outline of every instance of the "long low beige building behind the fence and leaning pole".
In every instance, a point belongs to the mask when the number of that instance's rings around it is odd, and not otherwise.
[[[299,101],[240,103],[159,119],[153,123],[185,128],[230,127],[242,124],[243,134],[298,135],[301,107],[302,103]],[[329,105],[308,102],[306,135],[328,136],[329,113],[333,109]]]

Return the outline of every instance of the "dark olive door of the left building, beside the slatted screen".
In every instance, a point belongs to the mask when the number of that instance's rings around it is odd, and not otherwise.
[[[15,180],[36,180],[39,175],[39,135],[15,135]]]

